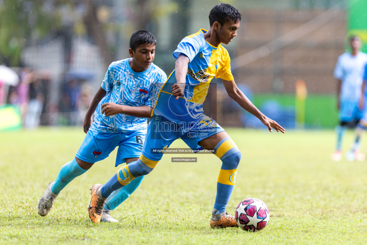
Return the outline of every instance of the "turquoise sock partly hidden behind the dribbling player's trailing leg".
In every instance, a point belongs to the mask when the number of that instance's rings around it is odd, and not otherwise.
[[[131,182],[128,185],[125,185],[119,190],[112,192],[111,195],[107,198],[105,209],[113,210],[117,206],[119,206],[131,195],[132,192],[134,192],[138,188],[143,179],[144,176],[139,176],[131,180]]]

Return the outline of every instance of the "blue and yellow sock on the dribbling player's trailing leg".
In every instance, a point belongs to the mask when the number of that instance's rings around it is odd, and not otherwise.
[[[139,176],[150,173],[157,163],[158,161],[150,160],[141,155],[138,161],[131,162],[128,165],[121,167],[109,181],[103,184],[101,189],[102,197],[108,198],[113,191],[124,187]]]

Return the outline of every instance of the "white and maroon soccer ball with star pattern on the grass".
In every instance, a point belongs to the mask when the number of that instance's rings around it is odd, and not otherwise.
[[[259,231],[269,222],[269,209],[257,198],[246,198],[236,208],[235,219],[244,231]]]

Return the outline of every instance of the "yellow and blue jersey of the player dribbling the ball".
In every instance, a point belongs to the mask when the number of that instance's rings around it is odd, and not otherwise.
[[[200,122],[207,118],[203,113],[203,102],[211,79],[215,77],[233,80],[228,51],[221,44],[214,47],[206,42],[206,32],[207,30],[200,29],[178,44],[173,56],[178,58],[180,54],[184,54],[190,59],[184,95],[176,100],[171,93],[171,86],[176,83],[173,71],[159,91],[152,116],[164,116],[176,123]]]

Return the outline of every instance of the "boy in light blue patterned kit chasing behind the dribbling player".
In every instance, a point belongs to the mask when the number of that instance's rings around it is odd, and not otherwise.
[[[85,173],[95,162],[108,157],[116,147],[116,165],[137,161],[146,136],[146,118],[150,117],[160,85],[166,74],[156,65],[155,37],[145,31],[130,38],[131,58],[112,62],[101,87],[95,94],[83,122],[84,138],[72,161],[60,169],[55,181],[48,184],[39,201],[38,213],[46,216],[60,191],[75,177]],[[94,122],[92,114],[94,112]],[[136,190],[143,176],[110,195],[103,209],[102,221],[118,222],[110,216],[113,210]]]

